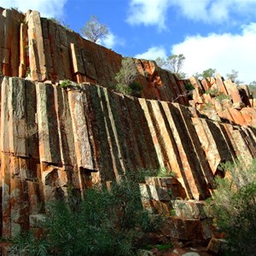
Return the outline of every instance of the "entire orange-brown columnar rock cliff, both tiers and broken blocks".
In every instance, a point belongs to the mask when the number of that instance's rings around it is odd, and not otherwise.
[[[169,187],[141,186],[168,187],[200,208],[221,163],[256,157],[256,102],[246,85],[220,76],[179,80],[154,61],[134,60],[142,97],[123,96],[108,89],[121,59],[36,11],[0,9],[3,237],[33,227],[40,206],[68,196],[71,185],[82,192],[137,167],[175,172]],[[64,79],[79,84],[61,88]],[[151,206],[161,201],[155,193]],[[177,214],[171,226],[201,218]]]

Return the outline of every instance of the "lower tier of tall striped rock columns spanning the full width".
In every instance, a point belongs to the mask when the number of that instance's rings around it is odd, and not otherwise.
[[[256,130],[207,119],[178,103],[121,96],[95,84],[77,88],[1,79],[3,236],[29,226],[53,198],[137,167],[165,166],[177,196],[204,200],[218,166],[256,156]],[[180,192],[178,192],[180,191]]]

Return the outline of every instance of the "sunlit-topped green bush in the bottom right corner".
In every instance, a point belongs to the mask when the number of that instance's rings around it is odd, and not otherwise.
[[[217,178],[218,189],[208,211],[224,231],[230,255],[255,255],[256,244],[256,160],[246,167],[241,161],[226,163],[230,178]]]

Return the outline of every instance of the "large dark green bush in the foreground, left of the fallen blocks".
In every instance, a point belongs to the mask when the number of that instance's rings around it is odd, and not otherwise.
[[[123,180],[112,189],[86,190],[84,201],[51,202],[42,224],[44,237],[15,240],[26,255],[135,255],[145,234],[158,230],[160,217],[143,209],[137,183]],[[40,249],[40,250],[39,250]]]

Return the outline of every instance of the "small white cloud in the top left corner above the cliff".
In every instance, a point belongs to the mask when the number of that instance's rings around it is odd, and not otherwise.
[[[64,5],[67,0],[0,0],[3,8],[18,8],[22,12],[28,9],[38,10],[42,17],[57,17],[63,15]]]

